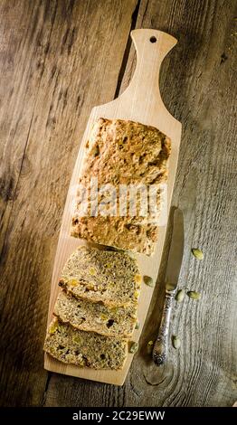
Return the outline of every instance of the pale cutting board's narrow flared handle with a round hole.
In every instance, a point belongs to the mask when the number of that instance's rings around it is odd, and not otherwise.
[[[154,109],[155,114],[162,112],[170,115],[160,96],[159,70],[177,40],[168,33],[150,29],[134,30],[131,37],[137,52],[137,67],[128,89],[119,98],[122,103],[130,99],[131,109],[135,104],[143,105],[144,108],[144,99],[147,99],[147,113]]]

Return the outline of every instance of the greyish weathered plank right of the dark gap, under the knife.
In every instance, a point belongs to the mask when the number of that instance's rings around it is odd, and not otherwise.
[[[146,355],[147,341],[156,335],[160,319],[166,247],[140,352],[126,384],[117,388],[53,375],[48,406],[230,406],[234,401],[235,15],[233,1],[154,0],[141,1],[137,18],[137,27],[163,30],[179,40],[163,67],[161,91],[167,108],[184,126],[173,201],[185,212],[185,261],[179,284],[202,292],[199,303],[186,297],[175,309],[172,332],[181,336],[181,350],[171,348],[169,364],[158,373]],[[131,50],[121,90],[128,85],[134,63]],[[190,253],[196,245],[204,250],[200,263]]]

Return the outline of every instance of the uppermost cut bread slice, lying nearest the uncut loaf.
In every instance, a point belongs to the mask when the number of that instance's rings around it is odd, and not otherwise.
[[[141,276],[127,252],[83,245],[66,262],[59,285],[74,297],[120,307],[137,301]]]

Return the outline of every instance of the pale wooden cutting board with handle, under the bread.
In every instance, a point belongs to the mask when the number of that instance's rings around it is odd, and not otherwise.
[[[170,207],[180,146],[181,123],[167,111],[160,97],[158,80],[161,62],[172,47],[175,46],[176,40],[167,33],[149,29],[132,31],[131,36],[137,51],[137,68],[133,79],[128,89],[125,90],[118,99],[91,110],[90,118],[82,138],[81,148],[71,177],[69,193],[62,217],[62,228],[52,274],[48,323],[52,319],[52,309],[60,290],[58,287],[58,280],[61,275],[62,267],[71,255],[71,252],[83,242],[70,236],[72,205],[83,160],[84,146],[90,132],[90,127],[97,118],[121,118],[139,121],[143,124],[157,127],[171,138],[172,150],[168,165],[169,175],[167,182],[168,209]],[[156,251],[152,257],[137,254],[141,275],[151,276],[154,281],[156,281],[158,274],[165,235],[166,226],[160,227]],[[143,283],[138,303],[138,319],[140,326],[132,337],[133,341],[138,341],[139,335],[141,334],[152,293],[153,288],[149,288]],[[94,371],[89,368],[80,368],[71,364],[61,364],[53,360],[50,355],[45,354],[44,367],[48,371],[56,373],[64,373],[93,381],[122,385],[128,373],[132,358],[133,354],[128,354],[128,360],[121,371]]]

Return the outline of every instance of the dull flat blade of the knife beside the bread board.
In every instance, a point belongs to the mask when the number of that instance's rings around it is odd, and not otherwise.
[[[175,290],[182,266],[185,244],[184,216],[179,208],[175,209],[172,239],[166,267],[166,289]]]

